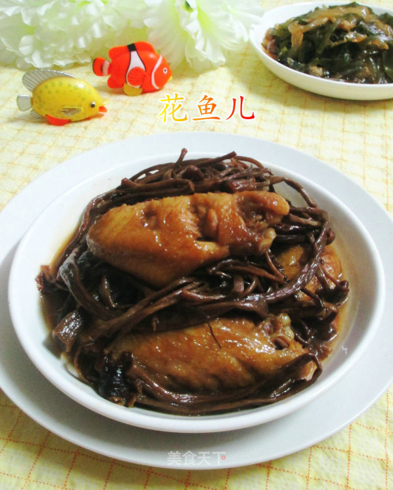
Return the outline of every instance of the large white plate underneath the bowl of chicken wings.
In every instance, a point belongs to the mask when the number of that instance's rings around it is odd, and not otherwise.
[[[102,146],[57,166],[32,182],[0,214],[0,278],[5,284],[15,248],[38,214],[79,181],[107,170],[116,160],[144,158],[158,148],[165,160],[173,148],[255,155],[307,175],[350,207],[374,237],[387,277],[393,275],[390,246],[393,223],[383,208],[345,175],[304,153],[259,139],[217,133],[175,133],[135,138]],[[15,225],[17,224],[17,225]],[[328,437],[358,417],[387,389],[393,378],[390,345],[393,332],[393,284],[387,283],[383,319],[362,359],[334,387],[308,406],[252,429],[206,434],[148,431],[102,417],[73,402],[47,381],[20,346],[9,316],[6,291],[0,291],[0,384],[8,397],[31,418],[82,447],[119,460],[171,467],[169,452],[205,452],[210,460],[183,469],[234,467],[278,458]],[[362,389],[359,389],[359,386]],[[337,409],[339,406],[339,409]],[[285,443],[283,443],[285,441]],[[225,453],[225,454],[224,454]],[[220,457],[225,457],[221,459]],[[199,462],[196,460],[197,463]]]

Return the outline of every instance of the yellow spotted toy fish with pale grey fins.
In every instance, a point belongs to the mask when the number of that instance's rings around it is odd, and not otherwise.
[[[35,118],[46,117],[56,126],[107,112],[104,106],[106,101],[97,90],[69,73],[31,70],[25,73],[22,82],[32,96],[18,95],[16,102],[19,109],[31,109],[31,115]]]

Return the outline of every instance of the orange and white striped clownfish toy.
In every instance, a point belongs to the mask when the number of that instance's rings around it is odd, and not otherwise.
[[[123,87],[127,95],[154,92],[172,78],[166,59],[145,41],[116,46],[108,55],[111,62],[104,58],[94,59],[93,72],[101,77],[109,75],[108,86]]]

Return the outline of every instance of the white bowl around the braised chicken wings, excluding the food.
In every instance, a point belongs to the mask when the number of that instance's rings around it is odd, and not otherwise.
[[[228,148],[228,151],[232,149],[236,151],[236,148]],[[15,331],[32,362],[57,388],[85,407],[114,420],[167,432],[220,432],[277,419],[324,393],[353,366],[372,339],[384,305],[382,263],[365,227],[343,203],[304,176],[266,164],[275,174],[284,174],[302,183],[320,207],[329,212],[337,233],[336,248],[351,288],[345,307],[345,326],[335,350],[324,363],[322,375],[304,391],[276,404],[218,415],[179,416],[118,406],[101,398],[73,374],[70,364],[56,351],[45,324],[34,279],[41,264],[51,261],[57,248],[75,229],[85,204],[97,194],[116,187],[122,177],[156,163],[175,161],[178,154],[176,151],[162,157],[156,153],[132,163],[118,164],[71,188],[40,214],[19,244],[11,267],[9,305]],[[202,156],[218,154],[198,151],[190,153],[188,158]]]

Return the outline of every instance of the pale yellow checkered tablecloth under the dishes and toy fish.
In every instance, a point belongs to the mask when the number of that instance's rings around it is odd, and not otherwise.
[[[265,9],[290,0],[265,0]],[[392,7],[391,0],[373,4]],[[290,86],[270,73],[251,46],[228,63],[201,74],[182,64],[160,92],[115,93],[90,66],[68,70],[104,93],[103,117],[56,127],[16,107],[27,93],[23,73],[0,70],[0,209],[29,182],[57,164],[98,145],[133,136],[211,131],[263,138],[313,155],[350,176],[393,213],[393,100],[353,102]],[[169,93],[182,97],[187,120],[159,116]],[[203,95],[220,120],[193,120]],[[243,96],[244,115],[238,112]],[[232,112],[233,99],[237,102]],[[115,157],[114,157],[115,158]],[[3,285],[5,287],[5,285]],[[161,469],[117,461],[67,442],[32,421],[0,394],[0,488],[64,489],[389,489],[393,488],[393,391],[348,427],[296,454],[246,467],[210,471]],[[151,462],[154,464],[154,461]]]

